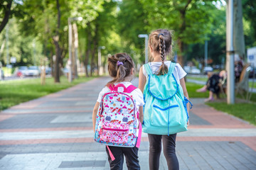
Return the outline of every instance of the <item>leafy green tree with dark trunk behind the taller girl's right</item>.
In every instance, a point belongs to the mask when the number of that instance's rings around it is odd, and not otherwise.
[[[203,42],[210,33],[213,20],[212,1],[146,1],[144,4],[149,19],[149,28],[168,28],[174,30],[174,38],[178,45],[178,63],[183,66],[186,45]],[[175,49],[174,49],[175,50]]]

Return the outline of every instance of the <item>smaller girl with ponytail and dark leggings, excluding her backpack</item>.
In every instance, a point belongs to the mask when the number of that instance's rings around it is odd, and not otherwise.
[[[122,99],[122,98],[121,98],[121,101],[122,101],[121,106],[122,108],[134,107],[134,110],[136,111],[136,112],[134,111],[134,113],[137,113],[137,114],[139,113],[139,121],[136,121],[137,123],[136,125],[139,125],[139,122],[142,123],[143,121],[144,100],[143,100],[142,91],[140,91],[140,89],[136,88],[135,86],[132,86],[132,83],[131,83],[132,78],[134,76],[134,62],[132,60],[132,57],[127,55],[127,53],[118,53],[116,55],[112,55],[111,57],[109,57],[107,62],[108,62],[108,72],[110,74],[110,77],[112,77],[112,80],[107,83],[107,85],[102,89],[102,91],[100,91],[100,94],[97,98],[97,102],[95,104],[95,107],[92,113],[93,130],[95,131],[97,111],[99,109],[100,103],[102,104],[102,100],[103,100],[102,98],[104,98],[105,94],[109,94],[110,91],[118,91],[118,93],[124,93],[125,90],[128,91],[130,87],[132,87],[132,90],[131,92],[129,92],[129,95],[131,96],[135,107],[132,105],[133,102],[132,103],[124,102],[125,99]],[[131,100],[129,99],[129,101]],[[114,106],[117,101],[114,101],[113,99],[112,102]],[[108,104],[110,105],[110,103]],[[113,113],[113,111],[111,112]],[[123,115],[123,113],[124,111],[120,110],[118,114]],[[112,119],[114,120],[114,116],[112,117]],[[120,127],[122,126],[120,125]],[[122,130],[119,130],[119,131],[122,131]],[[137,132],[139,132],[139,130],[137,130]],[[112,136],[110,135],[110,137]],[[137,134],[137,138],[139,138],[138,134]],[[112,140],[116,140],[116,138],[112,137]],[[139,151],[138,147],[122,147],[122,146],[116,147],[113,145],[107,146],[106,152],[108,156],[108,161],[110,163],[110,169],[123,169],[124,156],[125,156],[127,169],[139,170],[140,166],[139,166],[139,159],[138,159],[138,151]]]

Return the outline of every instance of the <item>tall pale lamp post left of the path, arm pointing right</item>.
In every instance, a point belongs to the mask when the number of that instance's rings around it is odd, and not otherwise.
[[[72,21],[82,21],[82,17],[68,18],[68,81],[72,82]]]

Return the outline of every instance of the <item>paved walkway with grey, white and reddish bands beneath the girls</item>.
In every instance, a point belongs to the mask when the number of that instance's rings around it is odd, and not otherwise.
[[[109,80],[93,79],[2,111],[0,169],[109,169],[105,146],[93,141],[92,131],[92,108]],[[133,83],[137,86],[138,79]],[[256,127],[215,111],[203,98],[191,101],[191,125],[178,133],[176,142],[180,169],[255,170]],[[149,169],[148,148],[143,134],[142,170]],[[160,169],[167,169],[163,154]]]

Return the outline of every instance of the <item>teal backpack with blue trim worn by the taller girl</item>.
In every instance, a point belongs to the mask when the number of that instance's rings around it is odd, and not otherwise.
[[[187,129],[189,102],[174,77],[175,63],[164,75],[153,74],[149,63],[144,64],[148,77],[144,86],[144,124],[142,131],[154,135],[169,135]]]

